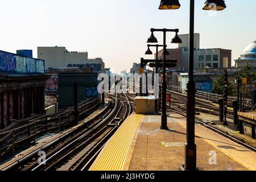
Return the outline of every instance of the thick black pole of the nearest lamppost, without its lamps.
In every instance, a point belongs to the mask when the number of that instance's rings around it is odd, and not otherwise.
[[[195,82],[193,81],[194,59],[194,16],[195,0],[190,1],[189,23],[189,80],[187,83],[187,143],[185,143],[184,170],[196,171],[196,144],[195,144]]]

